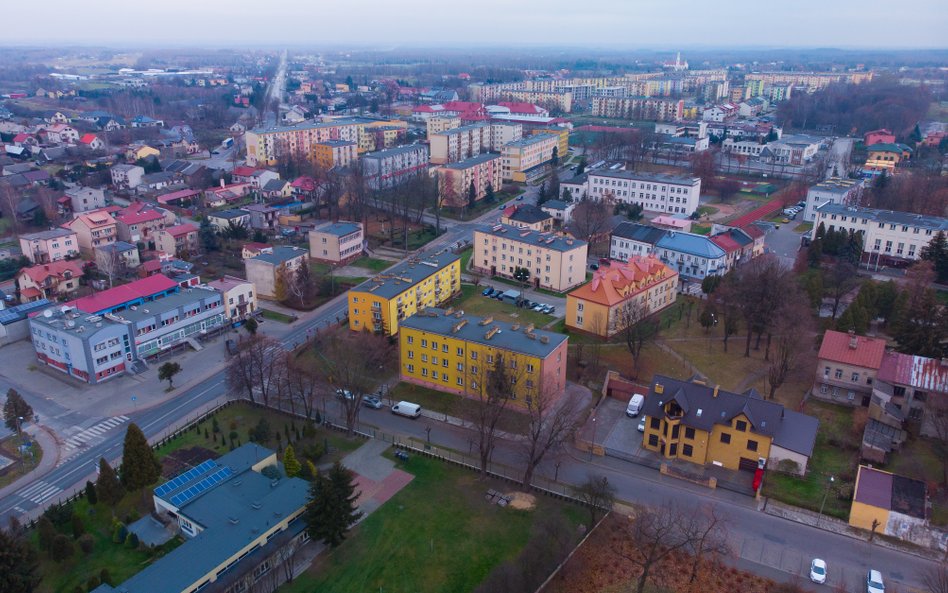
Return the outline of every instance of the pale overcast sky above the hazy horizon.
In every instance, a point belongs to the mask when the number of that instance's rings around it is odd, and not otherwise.
[[[2,0],[0,44],[948,46],[946,0]]]

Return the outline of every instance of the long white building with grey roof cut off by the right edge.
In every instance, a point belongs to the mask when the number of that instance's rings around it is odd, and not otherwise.
[[[862,233],[862,261],[869,266],[918,260],[936,234],[948,233],[948,218],[832,203],[816,209],[811,239],[821,224],[826,231]]]

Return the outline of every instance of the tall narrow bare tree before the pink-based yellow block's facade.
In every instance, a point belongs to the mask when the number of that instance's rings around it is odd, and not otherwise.
[[[496,355],[493,363],[485,362],[490,366],[482,367],[479,373],[482,380],[478,381],[479,387],[475,387],[480,405],[474,418],[474,430],[481,474],[486,476],[487,465],[497,445],[497,424],[517,388],[520,373],[509,368],[503,355]]]

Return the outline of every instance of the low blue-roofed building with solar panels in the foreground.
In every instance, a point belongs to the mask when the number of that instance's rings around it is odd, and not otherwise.
[[[177,523],[187,541],[124,583],[95,592],[250,591],[263,575],[282,570],[279,559],[308,539],[309,484],[270,479],[261,473],[270,466],[277,466],[276,453],[248,443],[155,488],[155,511]]]

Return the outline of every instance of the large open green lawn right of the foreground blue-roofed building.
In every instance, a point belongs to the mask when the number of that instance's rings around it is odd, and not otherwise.
[[[542,496],[532,511],[489,504],[488,488],[509,485],[420,455],[400,465],[411,483],[281,593],[465,593],[516,557],[534,515],[562,513],[573,524],[586,516]]]

